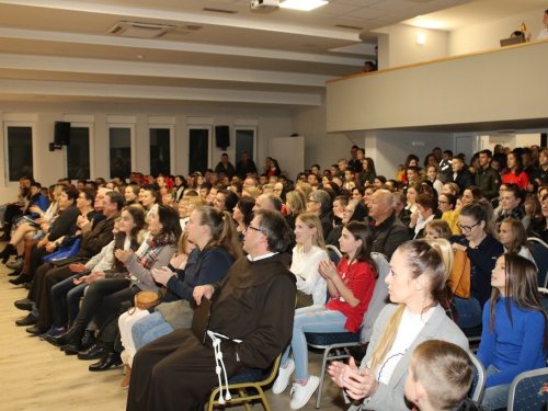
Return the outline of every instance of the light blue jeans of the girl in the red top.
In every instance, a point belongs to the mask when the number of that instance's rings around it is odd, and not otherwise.
[[[308,345],[305,332],[349,332],[344,328],[346,316],[341,311],[328,310],[323,306],[304,307],[295,310],[293,338],[282,355],[282,365],[286,365],[289,350],[295,361],[295,379],[308,378]]]

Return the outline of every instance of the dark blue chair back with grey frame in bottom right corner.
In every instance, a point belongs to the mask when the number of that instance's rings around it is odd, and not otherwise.
[[[540,411],[548,402],[548,368],[525,372],[510,386],[509,411]]]

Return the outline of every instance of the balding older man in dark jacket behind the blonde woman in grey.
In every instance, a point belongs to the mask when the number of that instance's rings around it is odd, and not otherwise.
[[[409,240],[403,222],[396,217],[396,202],[388,190],[377,190],[370,197],[369,228],[373,231],[373,252],[380,252],[390,261],[398,247]]]

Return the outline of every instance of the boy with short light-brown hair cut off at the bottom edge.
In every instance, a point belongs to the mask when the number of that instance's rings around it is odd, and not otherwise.
[[[484,410],[467,398],[473,364],[467,352],[442,340],[426,340],[411,355],[406,398],[421,411]]]

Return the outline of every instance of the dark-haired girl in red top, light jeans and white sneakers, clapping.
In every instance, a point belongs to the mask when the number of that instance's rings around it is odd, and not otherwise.
[[[296,230],[297,231],[297,230]],[[340,249],[344,253],[339,265],[323,260],[320,275],[326,278],[331,300],[326,305],[301,308],[295,313],[293,339],[285,350],[279,374],[272,392],[282,393],[296,370],[292,389],[293,410],[306,406],[319,385],[308,370],[306,332],[357,332],[373,296],[377,266],[372,259],[373,235],[365,222],[351,221],[342,230]],[[293,359],[289,352],[293,351]]]

